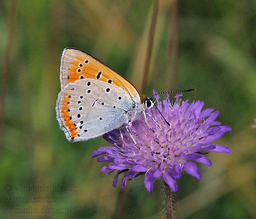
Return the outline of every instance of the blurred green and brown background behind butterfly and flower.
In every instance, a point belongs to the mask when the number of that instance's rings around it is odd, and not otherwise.
[[[55,112],[65,47],[86,51],[141,89],[153,10],[152,0],[0,0],[6,91],[0,103],[0,218],[108,219],[117,217],[120,203],[124,218],[165,218],[161,178],[153,193],[146,191],[143,176],[128,181],[122,190],[127,200],[120,201],[120,181],[113,188],[114,175],[105,176],[104,163],[91,158],[108,142],[68,142]],[[231,154],[210,153],[212,166],[198,165],[202,179],[184,172],[177,180],[174,215],[256,218],[256,1],[162,0],[158,12],[144,94],[196,88],[184,100],[204,101],[204,109],[219,110],[217,120],[232,128],[216,141]],[[54,184],[74,185],[76,191],[53,191]],[[49,189],[22,191],[20,185]],[[56,201],[9,199],[46,195]],[[66,214],[76,207],[79,213]],[[39,212],[11,213],[18,208]],[[41,212],[61,208],[63,213]]]

